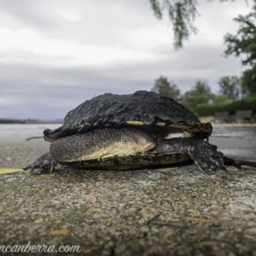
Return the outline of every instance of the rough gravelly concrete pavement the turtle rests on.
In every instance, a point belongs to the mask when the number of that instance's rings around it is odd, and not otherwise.
[[[25,141],[44,128],[1,125],[0,168],[23,168],[46,152],[43,139]],[[210,143],[254,150],[256,135],[213,136]],[[0,175],[0,246],[79,246],[66,255],[256,256],[255,178],[256,170],[232,166],[204,175],[193,163]]]

